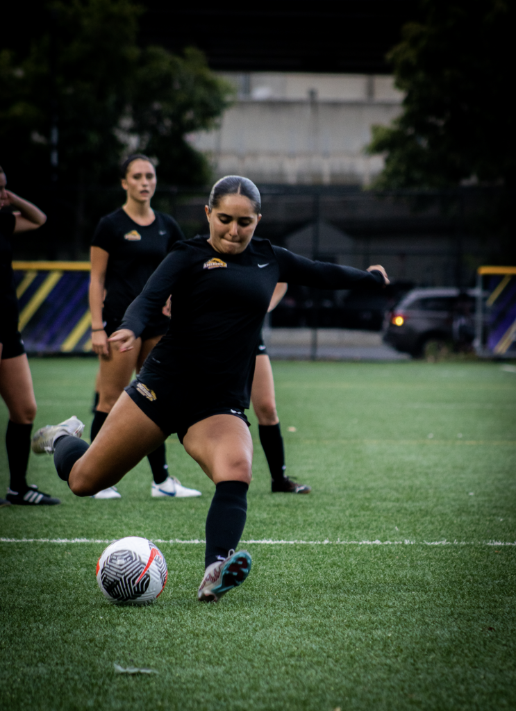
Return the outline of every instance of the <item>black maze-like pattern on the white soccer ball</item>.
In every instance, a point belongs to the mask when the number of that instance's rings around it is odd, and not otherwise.
[[[102,587],[117,602],[131,602],[143,595],[149,587],[151,576],[144,571],[145,562],[132,550],[117,550],[107,557],[100,579]]]

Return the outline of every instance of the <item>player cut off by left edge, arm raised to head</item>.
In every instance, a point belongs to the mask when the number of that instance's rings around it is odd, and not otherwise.
[[[6,185],[6,175],[0,168],[0,210],[4,208],[0,211],[0,395],[9,410],[6,449],[10,474],[7,498],[0,498],[0,506],[9,506],[9,503],[23,506],[55,504],[60,503],[58,498],[52,498],[26,482],[36,397],[18,331],[18,301],[11,265],[12,235],[37,230],[47,218],[36,205],[6,190]]]

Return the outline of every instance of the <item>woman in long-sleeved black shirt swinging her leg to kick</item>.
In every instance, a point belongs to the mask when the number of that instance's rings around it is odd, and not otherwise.
[[[210,237],[177,242],[122,326],[111,337],[131,350],[151,315],[172,295],[171,326],[122,393],[97,439],[77,439],[82,424],[70,417],[43,427],[33,450],[54,452],[55,467],[78,496],[117,483],[168,434],[183,445],[215,483],[206,520],[201,601],[217,600],[243,582],[251,559],[235,553],[247,512],[252,439],[249,407],[256,348],[278,282],[326,289],[387,283],[382,267],[367,272],[311,262],[268,240],[252,240],[261,218],[251,181],[227,176],[215,183],[206,207]],[[75,436],[74,436],[75,435]]]

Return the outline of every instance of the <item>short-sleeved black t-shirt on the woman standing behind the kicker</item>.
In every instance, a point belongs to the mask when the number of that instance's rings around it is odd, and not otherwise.
[[[120,321],[127,306],[144,288],[147,279],[178,241],[183,232],[176,220],[154,211],[151,225],[138,225],[119,208],[100,220],[92,246],[109,253],[105,280],[105,321]],[[160,308],[156,312],[161,314]]]

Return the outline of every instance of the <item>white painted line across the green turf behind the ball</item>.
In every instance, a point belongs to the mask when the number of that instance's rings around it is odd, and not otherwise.
[[[0,543],[112,543],[117,538],[0,538]],[[202,538],[153,538],[154,543],[168,543],[171,545],[203,545]],[[271,538],[241,540],[240,543],[254,543],[258,545],[512,545],[516,541],[507,542],[500,540],[485,540],[480,542],[459,540],[272,540]]]

